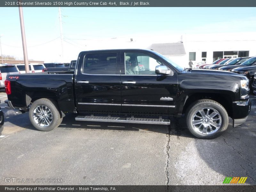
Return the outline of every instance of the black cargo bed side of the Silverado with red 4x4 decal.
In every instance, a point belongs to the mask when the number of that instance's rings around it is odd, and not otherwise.
[[[30,103],[41,97],[57,100],[61,111],[73,112],[75,108],[74,71],[7,75],[6,79],[11,82],[12,87],[9,99],[17,109],[28,111]]]

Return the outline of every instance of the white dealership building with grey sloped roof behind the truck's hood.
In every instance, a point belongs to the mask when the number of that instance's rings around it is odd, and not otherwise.
[[[177,42],[180,43],[152,44],[149,48],[183,67],[188,67],[189,60],[194,64],[201,61],[210,64],[220,58],[256,56],[256,33],[183,35]]]

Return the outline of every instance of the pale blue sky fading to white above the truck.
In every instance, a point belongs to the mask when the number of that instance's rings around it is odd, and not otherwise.
[[[28,58],[46,62],[69,62],[113,38],[256,32],[255,7],[61,7],[63,60],[59,9],[23,7],[23,14]],[[1,7],[0,20],[2,54],[22,59],[19,9]]]

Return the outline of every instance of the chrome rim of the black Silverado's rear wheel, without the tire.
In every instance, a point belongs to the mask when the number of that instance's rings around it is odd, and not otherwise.
[[[33,119],[41,127],[52,124],[52,111],[45,105],[38,105],[33,110]]]

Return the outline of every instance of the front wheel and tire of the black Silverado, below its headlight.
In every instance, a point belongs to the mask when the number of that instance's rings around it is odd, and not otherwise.
[[[228,113],[214,100],[197,100],[186,112],[189,131],[200,139],[219,137],[228,127]]]

